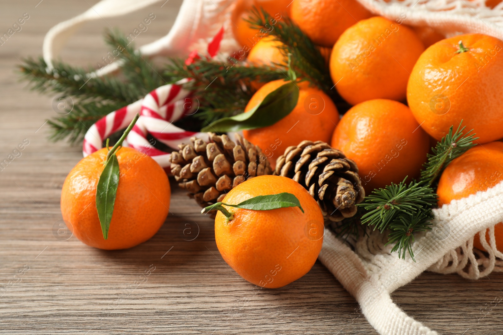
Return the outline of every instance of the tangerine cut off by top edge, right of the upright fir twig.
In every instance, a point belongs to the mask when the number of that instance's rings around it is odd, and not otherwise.
[[[292,21],[314,42],[331,48],[339,36],[372,13],[356,0],[295,0]]]

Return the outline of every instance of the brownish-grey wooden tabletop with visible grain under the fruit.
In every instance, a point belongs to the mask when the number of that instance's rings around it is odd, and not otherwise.
[[[56,117],[55,94],[27,91],[14,69],[24,57],[41,54],[50,27],[96,1],[39,1],[0,5],[2,33],[23,13],[30,15],[22,31],[0,46],[0,160],[29,141],[0,172],[0,333],[376,334],[319,262],[281,289],[257,290],[241,279],[218,253],[212,220],[200,215],[175,183],[172,214],[140,246],[102,251],[75,237],[57,239],[60,189],[81,149],[47,140],[45,121]],[[108,51],[102,42],[108,25],[129,32],[148,13],[156,19],[137,43],[153,41],[169,30],[180,4],[170,0],[162,8],[158,3],[121,19],[87,24],[62,58],[97,63]],[[468,281],[425,273],[393,297],[410,316],[442,334],[503,334],[503,304],[491,304],[503,297],[502,286],[501,274]]]

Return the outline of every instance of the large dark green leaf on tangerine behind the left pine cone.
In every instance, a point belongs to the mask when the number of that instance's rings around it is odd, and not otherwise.
[[[299,99],[299,88],[293,82],[281,85],[261,103],[246,113],[222,118],[204,127],[201,132],[237,132],[274,125],[291,113]]]

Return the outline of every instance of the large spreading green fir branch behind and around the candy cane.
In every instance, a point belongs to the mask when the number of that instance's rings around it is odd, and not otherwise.
[[[191,65],[185,65],[183,59],[172,59],[161,70],[141,56],[120,32],[108,32],[105,40],[112,48],[107,61],[113,58],[122,63],[122,77],[90,77],[89,73],[96,70],[93,67],[80,68],[57,61],[53,64],[54,70],[48,71],[43,58],[25,59],[21,74],[32,89],[62,93],[73,101],[68,115],[49,121],[52,140],[66,138],[71,143],[79,142],[94,123],[111,111],[142,98],[161,85],[185,78],[193,79],[184,85],[194,92],[197,101],[194,107],[199,110],[175,124],[199,131],[215,120],[242,113],[255,91],[251,86],[253,78],[257,82],[267,82],[284,77],[279,69],[272,67],[206,58]]]

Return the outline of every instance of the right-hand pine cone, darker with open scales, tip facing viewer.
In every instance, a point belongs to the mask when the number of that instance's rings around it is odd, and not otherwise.
[[[274,174],[304,186],[331,221],[355,215],[355,205],[365,197],[356,163],[322,141],[288,147],[276,161]]]

